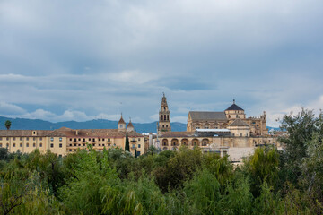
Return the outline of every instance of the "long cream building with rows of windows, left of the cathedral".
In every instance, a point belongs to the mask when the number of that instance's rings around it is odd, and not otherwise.
[[[118,129],[60,129],[49,130],[0,130],[0,147],[10,152],[21,151],[30,153],[39,149],[41,152],[50,150],[58,156],[73,153],[78,149],[101,151],[112,147],[125,149],[126,133],[130,143],[130,152],[144,154],[144,135],[136,133],[131,121],[126,126],[122,116]]]

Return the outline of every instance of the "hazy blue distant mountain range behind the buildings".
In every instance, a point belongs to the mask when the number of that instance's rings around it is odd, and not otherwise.
[[[12,130],[54,130],[60,127],[68,127],[72,129],[114,129],[118,127],[118,121],[107,119],[93,119],[85,122],[66,121],[51,123],[40,119],[25,118],[7,118],[0,116],[0,129],[5,130],[4,122],[10,120],[12,122]],[[153,123],[133,123],[135,131],[138,133],[156,133],[156,122]],[[170,123],[171,131],[186,131],[186,124]]]

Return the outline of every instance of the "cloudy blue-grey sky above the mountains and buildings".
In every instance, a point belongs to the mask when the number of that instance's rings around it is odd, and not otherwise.
[[[0,0],[0,116],[158,120],[323,107],[321,0]],[[278,119],[278,121],[277,121]]]

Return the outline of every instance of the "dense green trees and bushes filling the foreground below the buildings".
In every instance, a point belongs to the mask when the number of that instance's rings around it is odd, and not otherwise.
[[[180,148],[0,151],[1,214],[321,214],[322,115],[284,116],[285,150],[258,148],[240,167]]]

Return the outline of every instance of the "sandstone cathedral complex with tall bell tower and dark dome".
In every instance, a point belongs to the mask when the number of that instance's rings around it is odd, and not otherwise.
[[[170,128],[170,109],[165,94],[159,112],[158,135],[155,147],[161,150],[178,150],[199,147],[203,152],[229,155],[232,162],[240,163],[258,146],[280,143],[266,128],[266,112],[259,117],[246,117],[235,100],[224,111],[190,111],[187,131],[173,132]]]

